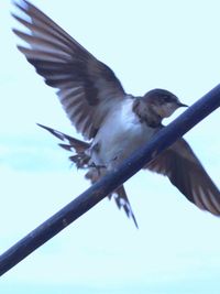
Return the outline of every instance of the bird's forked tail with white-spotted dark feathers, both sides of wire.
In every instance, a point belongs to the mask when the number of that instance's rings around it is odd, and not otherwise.
[[[100,168],[99,166],[91,165],[91,159],[87,154],[87,150],[90,148],[90,144],[78,139],[75,139],[68,134],[56,131],[50,127],[45,127],[43,124],[37,123],[38,127],[45,129],[59,140],[64,141],[64,143],[59,143],[58,145],[67,151],[74,152],[74,155],[69,156],[69,160],[76,164],[77,168],[88,168],[85,177],[91,182],[91,184],[99,181],[105,174],[106,170]],[[136,228],[139,228],[134,214],[132,211],[129,198],[127,196],[127,192],[124,186],[118,187],[114,192],[108,195],[109,199],[114,198],[116,204],[119,209],[123,209],[129,218],[132,218]]]

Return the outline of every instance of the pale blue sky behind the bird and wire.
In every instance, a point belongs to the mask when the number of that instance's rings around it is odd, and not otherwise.
[[[161,87],[191,105],[219,84],[217,0],[32,2],[108,64],[128,92]],[[1,252],[89,185],[56,138],[35,124],[76,135],[55,90],[16,50],[10,11],[11,1],[1,1]],[[219,115],[185,137],[218,186]],[[220,219],[163,176],[140,172],[125,187],[139,230],[105,199],[3,275],[1,293],[220,293]]]

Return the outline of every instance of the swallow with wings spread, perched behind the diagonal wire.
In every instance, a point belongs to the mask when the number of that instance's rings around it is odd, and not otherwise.
[[[96,183],[117,168],[132,152],[146,144],[164,128],[162,121],[187,107],[173,92],[155,88],[143,96],[127,94],[113,70],[98,61],[45,13],[26,0],[14,3],[22,17],[12,14],[28,31],[13,29],[26,45],[19,51],[32,64],[57,97],[84,141],[38,124],[62,140],[72,152],[69,160],[86,170],[85,177]],[[167,176],[193,204],[220,215],[220,190],[196,154],[178,139],[147,163],[143,170]],[[110,195],[119,208],[138,222],[124,186]]]

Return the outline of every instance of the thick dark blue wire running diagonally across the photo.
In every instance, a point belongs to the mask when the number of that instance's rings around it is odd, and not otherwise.
[[[151,142],[135,151],[118,170],[106,175],[2,253],[0,255],[0,275],[4,274],[35,249],[87,213],[219,106],[220,85],[216,86],[177,119],[155,134]]]

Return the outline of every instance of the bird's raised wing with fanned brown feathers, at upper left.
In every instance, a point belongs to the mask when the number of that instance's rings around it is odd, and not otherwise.
[[[77,131],[86,139],[96,135],[103,118],[125,92],[114,73],[33,4],[16,7],[28,18],[13,15],[30,33],[13,32],[28,43],[18,46],[26,59],[58,88],[57,95]]]

